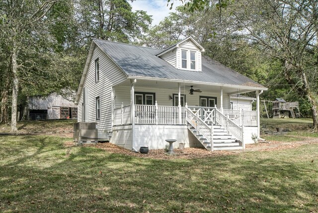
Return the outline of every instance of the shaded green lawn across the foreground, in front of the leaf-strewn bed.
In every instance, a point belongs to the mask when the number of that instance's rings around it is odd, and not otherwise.
[[[318,210],[318,144],[154,160],[65,141],[71,139],[0,137],[0,212]]]

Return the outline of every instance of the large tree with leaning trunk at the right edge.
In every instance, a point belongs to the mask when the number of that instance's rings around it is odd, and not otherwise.
[[[228,7],[237,34],[278,59],[286,82],[311,103],[316,130],[317,6],[315,0],[237,0]]]

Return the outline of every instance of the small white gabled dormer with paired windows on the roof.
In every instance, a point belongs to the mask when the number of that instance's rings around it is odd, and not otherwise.
[[[164,49],[157,56],[177,69],[201,72],[201,52],[204,52],[204,48],[189,36],[175,45]]]

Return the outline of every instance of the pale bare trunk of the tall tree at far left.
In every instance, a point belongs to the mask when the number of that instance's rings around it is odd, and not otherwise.
[[[16,63],[16,55],[17,51],[13,48],[13,52],[11,55],[11,68],[13,74],[12,81],[12,110],[11,110],[11,132],[17,132],[16,128],[16,111],[17,111],[17,103],[18,103],[18,90],[19,90],[19,80],[17,76],[17,63]]]

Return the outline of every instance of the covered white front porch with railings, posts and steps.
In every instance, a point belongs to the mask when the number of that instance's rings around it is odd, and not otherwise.
[[[191,86],[201,92],[191,93]],[[164,141],[164,138],[178,135],[189,146],[200,146],[200,143],[191,142],[196,140],[196,134],[200,134],[206,139],[201,140],[201,145],[209,142],[205,147],[213,150],[213,131],[222,126],[224,132],[231,135],[231,139],[239,140],[244,147],[244,138],[245,142],[250,142],[251,132],[259,134],[259,111],[231,109],[230,96],[251,91],[256,92],[259,108],[258,90],[158,80],[130,80],[121,83],[113,87],[111,94],[112,131],[115,135],[113,141],[129,140],[132,148],[138,149],[138,146],[150,146],[146,141],[154,141],[158,137]],[[189,130],[196,133],[191,135]],[[139,141],[138,144],[136,141]],[[162,147],[159,145],[151,148]]]

